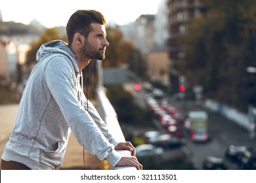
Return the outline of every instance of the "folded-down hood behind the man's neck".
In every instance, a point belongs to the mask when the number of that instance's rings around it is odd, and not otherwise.
[[[37,61],[42,61],[44,58],[52,54],[63,54],[64,56],[67,56],[67,58],[69,58],[72,62],[75,73],[79,73],[79,63],[75,58],[75,54],[73,54],[73,52],[67,46],[67,43],[61,40],[46,42],[37,51]]]

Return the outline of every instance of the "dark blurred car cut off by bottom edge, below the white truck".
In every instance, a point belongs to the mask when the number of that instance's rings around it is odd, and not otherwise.
[[[204,170],[227,170],[228,166],[224,158],[207,156],[202,162]]]

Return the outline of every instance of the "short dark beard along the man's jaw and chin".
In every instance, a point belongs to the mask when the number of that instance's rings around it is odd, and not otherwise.
[[[94,48],[94,46],[92,46],[88,41],[84,42],[84,45],[81,48],[84,56],[86,58],[90,58],[90,59],[100,59],[103,60],[105,59],[105,52],[103,52],[103,54],[101,54],[100,50],[97,50],[96,48]]]

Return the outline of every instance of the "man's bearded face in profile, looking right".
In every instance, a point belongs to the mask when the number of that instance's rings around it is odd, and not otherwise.
[[[106,47],[109,46],[105,25],[92,23],[90,26],[92,31],[89,33],[88,39],[84,41],[82,49],[86,58],[103,60]]]

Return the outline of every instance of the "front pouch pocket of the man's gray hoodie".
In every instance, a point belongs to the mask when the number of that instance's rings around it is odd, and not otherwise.
[[[51,169],[60,169],[65,155],[65,142],[59,141],[56,150],[40,150],[39,162]]]

